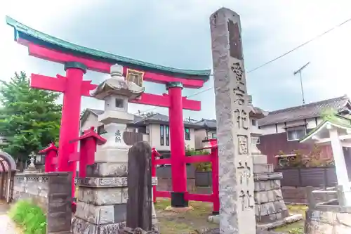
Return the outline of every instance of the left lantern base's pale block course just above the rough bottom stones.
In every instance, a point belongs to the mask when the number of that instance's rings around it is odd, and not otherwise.
[[[126,221],[126,204],[94,206],[77,202],[76,218],[95,225],[122,223]]]

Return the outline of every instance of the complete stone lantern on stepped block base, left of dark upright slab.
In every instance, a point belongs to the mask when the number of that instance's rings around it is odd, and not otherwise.
[[[105,100],[105,112],[98,121],[104,124],[103,136],[107,142],[95,153],[95,163],[87,166],[86,178],[78,179],[74,234],[112,234],[125,225],[130,147],[124,142],[123,134],[126,123],[134,118],[128,113],[128,100],[140,97],[144,88],[126,82],[122,72],[121,65],[112,65],[111,78],[91,93]]]

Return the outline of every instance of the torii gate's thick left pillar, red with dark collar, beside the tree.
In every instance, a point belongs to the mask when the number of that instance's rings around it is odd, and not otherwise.
[[[72,172],[72,197],[74,197],[74,178],[77,171],[77,162],[69,161],[69,156],[77,152],[77,142],[69,141],[79,136],[79,115],[81,110],[81,91],[83,89],[83,75],[86,66],[82,63],[65,63],[66,84],[63,96],[62,118],[60,128],[58,171]]]

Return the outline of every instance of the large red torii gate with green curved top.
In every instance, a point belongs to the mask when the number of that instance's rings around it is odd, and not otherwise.
[[[59,140],[58,171],[72,171],[74,183],[76,162],[69,162],[72,155],[77,155],[77,142],[69,143],[79,137],[79,115],[81,96],[90,96],[90,91],[96,85],[91,81],[84,81],[86,70],[110,73],[111,65],[119,63],[124,66],[124,75],[128,72],[140,74],[140,79],[145,81],[166,84],[168,94],[155,95],[143,93],[133,103],[156,105],[166,107],[169,111],[172,176],[174,182],[172,205],[177,207],[187,206],[184,199],[186,186],[185,164],[185,139],[183,126],[183,109],[201,110],[201,103],[182,97],[183,86],[199,89],[204,85],[211,74],[211,70],[178,70],[172,67],[153,65],[130,58],[115,56],[110,53],[96,51],[91,48],[71,44],[67,41],[51,37],[47,34],[33,30],[20,22],[6,17],[6,22],[15,30],[15,41],[28,48],[29,55],[56,63],[64,63],[66,75],[47,77],[32,74],[31,87],[64,93],[62,106],[62,119]],[[73,156],[74,157],[74,156]],[[179,178],[179,179],[177,179]],[[74,191],[72,191],[74,196]]]

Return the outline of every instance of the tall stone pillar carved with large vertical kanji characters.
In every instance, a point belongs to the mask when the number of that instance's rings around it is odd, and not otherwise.
[[[211,15],[219,159],[220,233],[256,233],[253,162],[240,18]]]

